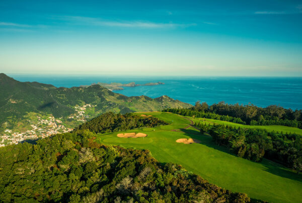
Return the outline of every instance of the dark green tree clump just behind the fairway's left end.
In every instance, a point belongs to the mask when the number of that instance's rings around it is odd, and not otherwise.
[[[131,113],[121,115],[108,112],[80,125],[74,131],[88,129],[95,133],[105,133],[167,124],[169,123],[155,117],[142,117]]]

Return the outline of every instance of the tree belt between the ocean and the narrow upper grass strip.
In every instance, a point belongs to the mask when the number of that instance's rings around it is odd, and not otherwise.
[[[168,108],[163,111],[178,113],[184,116],[204,117],[249,125],[285,125],[302,128],[302,110],[285,109],[277,105],[265,108],[253,104],[239,105],[218,104],[208,105],[206,102],[187,109]]]

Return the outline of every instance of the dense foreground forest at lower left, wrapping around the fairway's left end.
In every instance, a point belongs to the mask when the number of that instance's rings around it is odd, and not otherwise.
[[[251,201],[247,194],[220,188],[179,165],[159,163],[148,150],[96,142],[95,132],[164,124],[152,117],[139,117],[104,114],[72,132],[41,139],[36,145],[0,148],[0,201]],[[95,128],[95,124],[101,127]]]

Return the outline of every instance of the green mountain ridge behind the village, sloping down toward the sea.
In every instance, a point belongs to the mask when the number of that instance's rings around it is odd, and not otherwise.
[[[53,116],[54,121],[66,120],[69,116],[68,127],[75,127],[79,122],[71,122],[72,118],[86,121],[87,118],[107,111],[127,113],[191,107],[190,104],[168,96],[155,99],[147,96],[127,97],[100,85],[56,88],[37,82],[19,82],[5,74],[0,74],[0,95],[0,132],[4,128],[13,129],[16,126],[30,129],[28,125],[34,124],[30,113],[36,113],[34,118],[42,115]],[[26,124],[22,122],[25,118]]]

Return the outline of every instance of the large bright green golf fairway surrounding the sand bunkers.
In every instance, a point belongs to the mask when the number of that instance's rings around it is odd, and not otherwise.
[[[172,113],[141,113],[163,119],[170,125],[127,130],[144,132],[145,138],[118,138],[117,133],[100,134],[98,141],[105,145],[148,149],[160,162],[182,165],[211,183],[232,191],[245,192],[250,197],[273,202],[301,202],[302,176],[279,164],[264,159],[255,163],[231,154],[212,142],[193,127],[181,132],[171,131],[188,126],[189,120]],[[173,121],[173,122],[172,122]],[[120,133],[120,132],[119,132]],[[180,138],[193,138],[200,144],[176,143]]]

